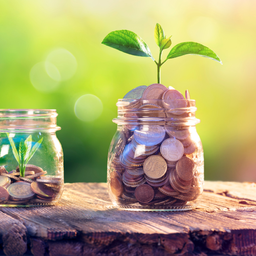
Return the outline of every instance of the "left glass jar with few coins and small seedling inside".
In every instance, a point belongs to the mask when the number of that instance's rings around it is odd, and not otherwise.
[[[64,189],[56,110],[0,110],[0,206],[56,204]]]

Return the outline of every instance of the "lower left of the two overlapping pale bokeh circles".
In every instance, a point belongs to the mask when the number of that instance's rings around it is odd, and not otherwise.
[[[58,69],[53,64],[48,63],[47,65],[56,79]],[[59,85],[58,80],[53,80],[48,76],[45,62],[39,62],[32,67],[30,71],[30,80],[34,88],[40,92],[52,92]]]

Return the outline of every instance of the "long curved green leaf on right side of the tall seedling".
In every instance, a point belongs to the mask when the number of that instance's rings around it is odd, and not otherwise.
[[[210,48],[206,46],[194,42],[185,42],[177,44],[174,48],[171,49],[166,60],[177,58],[187,54],[199,55],[202,57],[212,59],[222,64],[220,58],[214,51],[212,51]]]

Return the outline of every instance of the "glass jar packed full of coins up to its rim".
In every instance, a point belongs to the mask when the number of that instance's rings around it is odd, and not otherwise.
[[[119,99],[116,105],[117,131],[108,155],[113,205],[137,211],[195,208],[204,185],[195,100]]]

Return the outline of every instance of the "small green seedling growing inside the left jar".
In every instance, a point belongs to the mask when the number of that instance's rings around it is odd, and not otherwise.
[[[21,139],[21,141],[19,143],[19,152],[17,152],[13,138],[10,137],[10,134],[8,132],[6,132],[6,134],[8,136],[9,142],[12,146],[15,159],[17,160],[17,162],[19,164],[20,176],[24,177],[26,165],[27,165],[28,161],[32,158],[32,156],[34,155],[37,148],[42,143],[43,138],[41,140],[39,140],[36,144],[34,144],[32,149],[31,149],[31,145],[32,145],[32,136],[31,135],[25,140],[25,142],[23,141],[23,139]]]

